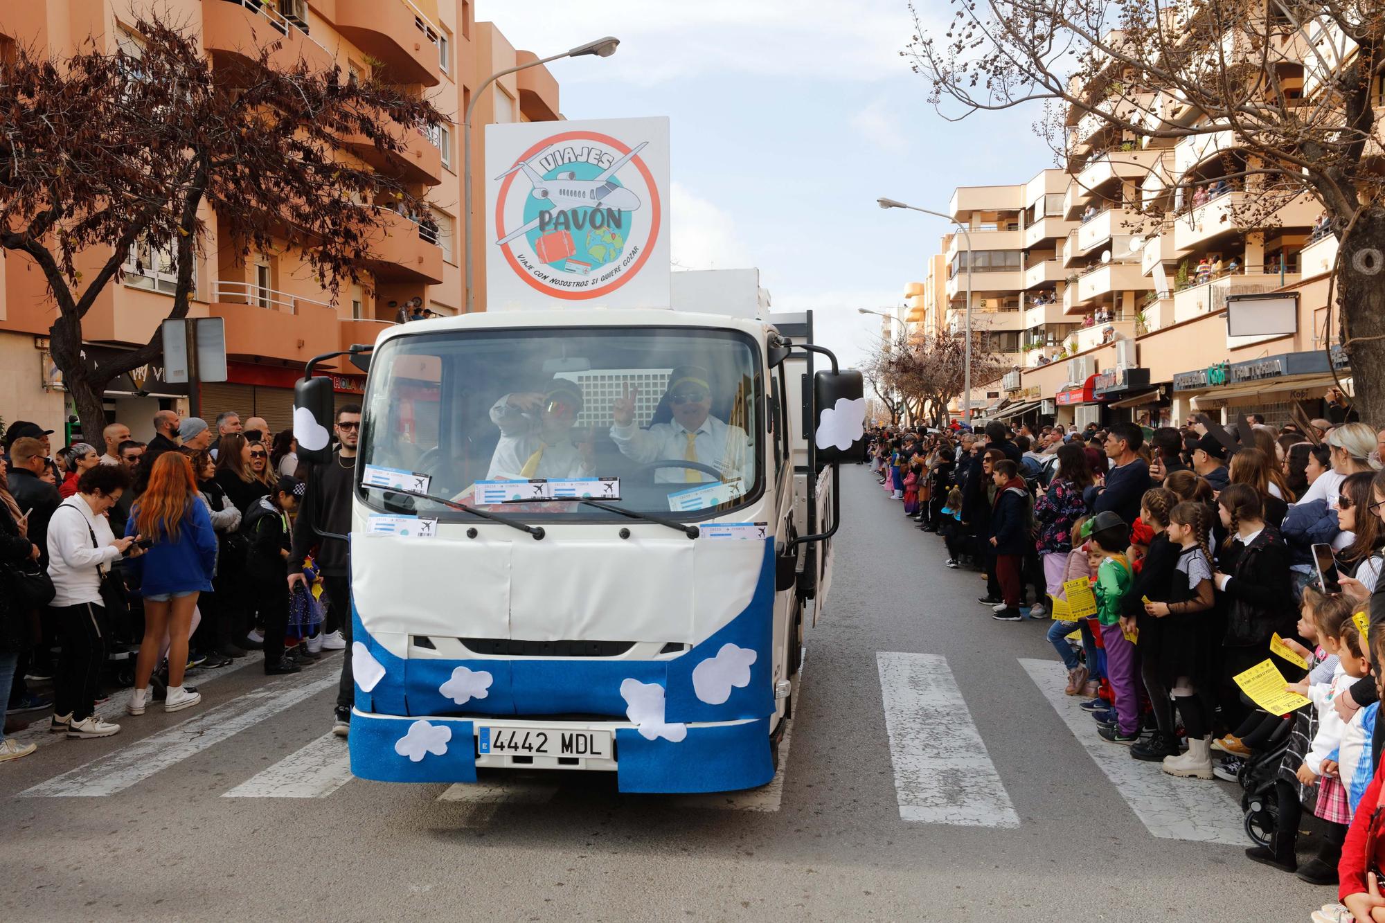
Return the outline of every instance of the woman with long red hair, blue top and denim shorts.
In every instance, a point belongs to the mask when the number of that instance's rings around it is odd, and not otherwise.
[[[195,689],[183,687],[187,638],[197,597],[212,589],[216,565],[216,534],[206,506],[198,498],[193,463],[181,452],[165,452],[150,470],[150,485],[130,509],[126,535],[141,535],[152,545],[129,563],[130,577],[144,596],[144,640],[134,662],[134,693],[126,710],[143,715],[150,676],[158,667],[163,636],[169,638],[168,696],[163,711],[191,708],[202,701]]]

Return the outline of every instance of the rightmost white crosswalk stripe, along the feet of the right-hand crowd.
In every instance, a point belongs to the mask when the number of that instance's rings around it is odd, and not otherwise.
[[[1021,658],[1019,665],[1150,833],[1165,840],[1246,844],[1241,805],[1220,783],[1176,779],[1156,762],[1132,759],[1127,747],[1101,739],[1097,722],[1082,711],[1082,698],[1062,693],[1057,661]]]

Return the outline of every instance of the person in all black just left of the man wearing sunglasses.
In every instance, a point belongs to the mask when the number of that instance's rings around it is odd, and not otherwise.
[[[306,485],[294,477],[281,477],[273,493],[251,504],[241,524],[249,536],[247,577],[251,599],[265,621],[265,674],[296,674],[298,661],[284,654],[288,633],[288,589],[284,564],[288,561],[291,528],[288,514],[298,509]]]

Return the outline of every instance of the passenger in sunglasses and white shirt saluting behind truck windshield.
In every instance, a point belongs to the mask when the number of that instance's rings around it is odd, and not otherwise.
[[[582,388],[566,378],[554,378],[542,392],[507,394],[496,401],[490,421],[500,427],[500,441],[486,478],[593,477],[591,442],[572,438],[582,405]]]

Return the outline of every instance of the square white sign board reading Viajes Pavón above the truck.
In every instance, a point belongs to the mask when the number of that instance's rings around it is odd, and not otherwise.
[[[669,306],[669,121],[486,126],[486,308]]]

